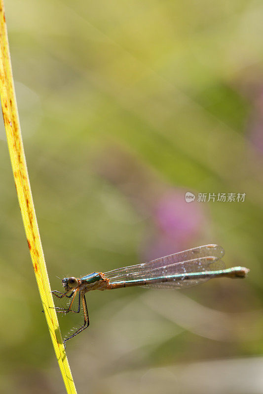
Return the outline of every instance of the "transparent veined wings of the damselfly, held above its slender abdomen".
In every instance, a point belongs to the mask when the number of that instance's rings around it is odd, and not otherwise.
[[[116,283],[127,280],[170,276],[177,273],[219,270],[225,267],[225,264],[220,260],[224,256],[224,253],[224,249],[219,245],[204,245],[162,257],[149,263],[113,269],[112,271],[105,272],[104,275],[109,279],[110,283]],[[200,280],[198,283],[200,283]],[[156,284],[147,286],[156,287]],[[165,288],[167,286],[174,287],[175,285],[167,283]]]

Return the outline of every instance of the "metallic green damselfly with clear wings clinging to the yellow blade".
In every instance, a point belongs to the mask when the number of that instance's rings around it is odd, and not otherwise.
[[[66,308],[56,307],[57,313],[79,313],[82,309],[84,317],[81,327],[63,340],[64,346],[66,341],[89,326],[85,293],[91,290],[113,290],[131,286],[183,289],[212,278],[246,277],[248,268],[240,266],[225,268],[225,263],[221,260],[224,254],[224,249],[219,245],[203,245],[148,263],[116,268],[108,272],[92,272],[80,278],[72,276],[62,279],[64,293],[57,290],[52,293],[58,298],[69,298],[69,304]],[[76,310],[73,308],[75,299]]]

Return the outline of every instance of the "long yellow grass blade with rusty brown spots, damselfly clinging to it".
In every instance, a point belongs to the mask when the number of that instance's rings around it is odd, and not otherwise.
[[[67,393],[76,393],[51,295],[20,131],[3,1],[0,0],[0,95],[18,201],[47,325]],[[39,311],[40,312],[40,311]]]

